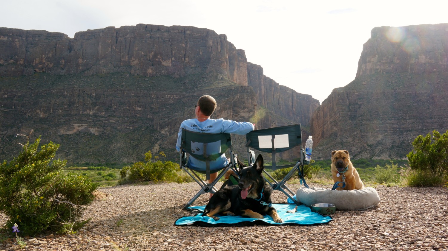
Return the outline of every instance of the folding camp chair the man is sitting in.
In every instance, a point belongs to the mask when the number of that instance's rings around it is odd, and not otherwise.
[[[218,189],[215,188],[215,184],[224,176],[224,174],[228,170],[233,170],[233,172],[238,173],[235,168],[236,154],[234,154],[232,151],[232,139],[230,137],[230,134],[206,134],[182,129],[180,148],[181,168],[184,169],[185,172],[187,172],[188,175],[190,175],[191,178],[193,178],[193,180],[201,186],[201,190],[199,190],[199,192],[196,193],[196,195],[191,198],[190,201],[188,201],[188,203],[184,206],[184,209],[188,208],[201,194],[205,194],[207,192],[215,193],[216,191],[218,191]],[[227,149],[230,150],[230,162],[228,163],[228,165],[211,170],[210,162],[224,154]],[[198,170],[194,169],[194,167],[189,167],[186,153],[190,155],[190,158],[194,157],[195,159],[205,162],[206,170]],[[211,184],[204,182],[197,174],[197,172],[205,174],[206,180],[209,180],[211,173],[219,172],[220,170],[222,171],[218,174],[216,179]]]

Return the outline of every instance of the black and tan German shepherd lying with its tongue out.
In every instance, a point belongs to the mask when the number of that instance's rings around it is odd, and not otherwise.
[[[263,178],[263,156],[258,155],[251,167],[246,167],[239,159],[238,173],[240,181],[237,185],[226,186],[218,190],[205,206],[203,216],[220,218],[215,214],[263,219],[263,214],[272,217],[274,222],[283,222],[277,210],[272,207],[272,187]]]

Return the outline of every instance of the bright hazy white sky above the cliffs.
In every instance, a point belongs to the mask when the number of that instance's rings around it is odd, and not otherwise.
[[[447,0],[0,0],[0,27],[74,33],[185,25],[226,34],[264,75],[320,102],[356,75],[377,26],[448,23]]]

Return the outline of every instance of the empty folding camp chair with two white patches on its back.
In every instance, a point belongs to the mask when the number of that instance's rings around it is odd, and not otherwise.
[[[300,146],[300,158],[297,163],[277,166],[276,153],[289,150],[295,146]],[[265,180],[269,184],[271,184],[274,190],[280,190],[284,192],[284,194],[288,196],[294,203],[299,205],[300,202],[297,202],[293,198],[295,193],[288,188],[286,182],[297,171],[301,180],[300,182],[308,187],[303,176],[303,165],[308,164],[308,162],[306,161],[305,163],[305,152],[303,151],[302,147],[302,129],[300,124],[251,131],[250,133],[246,134],[246,147],[247,159],[249,160],[250,165],[253,164],[254,159],[254,151],[250,150],[250,148],[252,148],[258,151],[272,153],[272,166],[265,165],[265,168],[272,168],[272,171],[276,171],[278,169],[293,167],[281,181],[275,180],[271,175],[269,175],[266,170],[264,170],[266,176],[268,176],[272,181],[268,180],[266,177]]]

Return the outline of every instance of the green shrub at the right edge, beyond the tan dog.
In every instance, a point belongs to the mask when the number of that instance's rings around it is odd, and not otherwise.
[[[404,172],[409,186],[440,186],[448,180],[448,130],[419,135],[407,155],[409,169]]]

